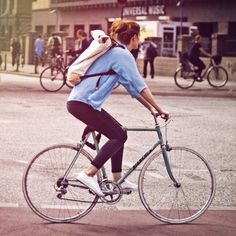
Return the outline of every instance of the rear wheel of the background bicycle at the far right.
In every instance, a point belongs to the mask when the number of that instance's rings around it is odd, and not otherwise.
[[[174,81],[175,84],[181,89],[188,89],[191,88],[195,82],[193,76],[183,76],[183,67],[178,67],[174,74]]]

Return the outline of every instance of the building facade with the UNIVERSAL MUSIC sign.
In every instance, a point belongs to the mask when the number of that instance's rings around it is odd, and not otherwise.
[[[111,23],[123,17],[137,20],[141,39],[156,39],[162,56],[175,56],[178,36],[195,30],[204,37],[209,52],[212,37],[220,35],[219,40],[226,42],[225,55],[236,56],[235,10],[234,0],[127,0],[123,5],[117,0],[37,0],[33,2],[31,30],[45,37],[57,31],[73,38],[77,29],[88,35],[93,29],[108,32]]]

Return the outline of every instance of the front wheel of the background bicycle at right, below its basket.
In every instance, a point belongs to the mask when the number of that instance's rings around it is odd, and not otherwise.
[[[214,88],[221,88],[228,82],[227,70],[222,66],[212,66],[207,73],[207,81]]]

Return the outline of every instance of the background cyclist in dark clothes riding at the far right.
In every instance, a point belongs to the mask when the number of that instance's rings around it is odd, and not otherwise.
[[[207,53],[202,48],[201,43],[202,43],[202,36],[198,34],[195,36],[195,42],[189,51],[189,61],[194,66],[198,67],[196,70],[196,72],[198,73],[198,78],[196,78],[196,80],[199,82],[203,81],[203,78],[201,78],[201,75],[202,75],[202,71],[206,68],[204,62],[200,59],[200,55],[203,54],[207,57],[211,57],[211,54]]]

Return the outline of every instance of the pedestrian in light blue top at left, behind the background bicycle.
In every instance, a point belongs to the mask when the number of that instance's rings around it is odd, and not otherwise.
[[[38,73],[38,64],[41,62],[42,66],[44,66],[44,40],[41,35],[34,42],[34,73]]]

